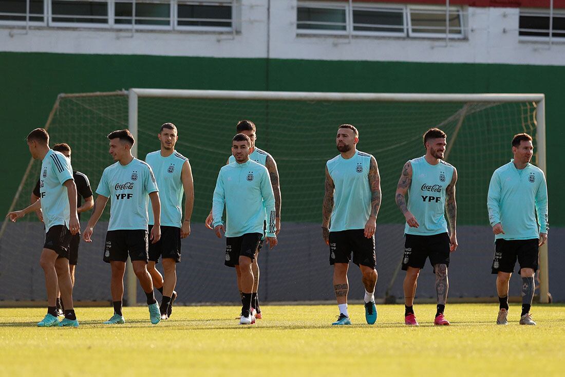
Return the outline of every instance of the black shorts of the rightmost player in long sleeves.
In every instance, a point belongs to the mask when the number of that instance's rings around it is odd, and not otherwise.
[[[538,239],[530,240],[503,240],[494,242],[494,260],[492,273],[514,272],[516,259],[521,268],[537,270]]]

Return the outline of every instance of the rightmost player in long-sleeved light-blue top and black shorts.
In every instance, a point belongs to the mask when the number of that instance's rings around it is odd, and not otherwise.
[[[532,137],[514,135],[514,158],[494,171],[490,179],[487,206],[493,227],[495,249],[492,273],[500,309],[497,324],[508,324],[508,289],[516,259],[522,277],[522,313],[520,324],[535,325],[529,310],[532,306],[534,271],[538,248],[547,242],[547,184],[544,172],[530,163]],[[537,218],[536,218],[537,213]]]

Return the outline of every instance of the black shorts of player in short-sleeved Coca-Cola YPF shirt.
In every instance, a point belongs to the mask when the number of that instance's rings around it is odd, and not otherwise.
[[[147,231],[145,229],[119,229],[106,233],[104,262],[125,262],[128,254],[133,261],[147,261]]]

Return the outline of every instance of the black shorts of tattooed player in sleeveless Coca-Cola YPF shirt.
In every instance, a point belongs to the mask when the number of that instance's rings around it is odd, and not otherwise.
[[[424,268],[426,259],[435,265],[446,265],[449,267],[449,254],[451,242],[447,233],[438,235],[420,236],[405,235],[404,258],[402,258],[402,270],[408,267]],[[434,272],[435,272],[434,267]]]

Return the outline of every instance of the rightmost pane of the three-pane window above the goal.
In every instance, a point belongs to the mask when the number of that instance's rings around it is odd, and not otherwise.
[[[449,8],[449,23],[446,20],[446,8],[408,7],[408,35],[411,37],[445,38],[449,25],[450,38],[463,38],[462,12],[458,8]]]

